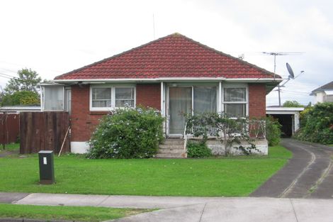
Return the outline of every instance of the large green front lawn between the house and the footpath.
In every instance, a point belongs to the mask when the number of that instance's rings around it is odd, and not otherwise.
[[[55,156],[56,184],[40,185],[38,156],[0,158],[0,192],[247,196],[286,164],[281,146],[269,156],[212,159],[87,160]]]

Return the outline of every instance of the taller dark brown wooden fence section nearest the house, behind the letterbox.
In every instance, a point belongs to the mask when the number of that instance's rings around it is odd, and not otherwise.
[[[40,150],[60,152],[64,136],[69,128],[67,112],[26,112],[20,114],[20,153],[35,153]],[[70,152],[69,135],[63,152]]]

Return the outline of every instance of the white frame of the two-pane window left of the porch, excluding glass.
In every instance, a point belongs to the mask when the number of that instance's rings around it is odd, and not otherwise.
[[[93,88],[109,88],[111,89],[111,106],[110,107],[93,107]],[[124,107],[115,107],[115,88],[132,88],[134,89],[134,106],[137,104],[137,89],[135,85],[122,85],[122,84],[100,84],[100,85],[90,85],[89,89],[89,111],[112,111],[114,109],[124,109]]]

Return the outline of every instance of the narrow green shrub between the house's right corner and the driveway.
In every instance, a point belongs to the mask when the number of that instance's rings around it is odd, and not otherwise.
[[[281,124],[272,116],[266,117],[266,139],[269,145],[278,145],[281,138]]]

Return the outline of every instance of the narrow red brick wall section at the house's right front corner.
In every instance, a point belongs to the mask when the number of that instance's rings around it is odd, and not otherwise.
[[[249,84],[249,118],[266,116],[265,84]]]

